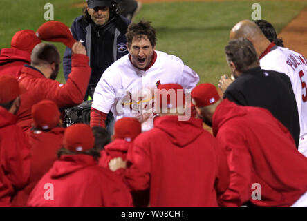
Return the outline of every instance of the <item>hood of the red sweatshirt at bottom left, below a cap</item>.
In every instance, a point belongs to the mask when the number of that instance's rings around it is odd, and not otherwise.
[[[76,154],[76,155],[62,155],[50,169],[50,177],[57,179],[64,175],[74,173],[87,166],[95,166],[97,161],[91,155]]]

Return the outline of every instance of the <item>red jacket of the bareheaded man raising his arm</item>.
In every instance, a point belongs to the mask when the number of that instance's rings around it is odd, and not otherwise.
[[[21,95],[21,106],[17,113],[18,126],[24,131],[30,129],[32,123],[31,108],[43,99],[52,100],[59,108],[67,108],[80,104],[86,93],[91,75],[89,57],[75,54],[72,56],[71,73],[66,84],[46,79],[39,70],[24,67],[19,82],[26,86],[27,93]]]

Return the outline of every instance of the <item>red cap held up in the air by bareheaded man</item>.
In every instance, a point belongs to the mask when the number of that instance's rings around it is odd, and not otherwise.
[[[59,21],[47,21],[43,23],[36,32],[39,39],[44,41],[62,42],[68,48],[73,47],[73,44],[77,42],[71,30],[62,22]]]

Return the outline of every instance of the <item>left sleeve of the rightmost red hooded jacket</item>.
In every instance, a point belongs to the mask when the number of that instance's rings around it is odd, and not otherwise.
[[[230,184],[226,191],[218,198],[221,206],[242,206],[250,200],[252,179],[252,160],[246,140],[237,129],[218,132],[218,141],[227,155],[230,169]]]

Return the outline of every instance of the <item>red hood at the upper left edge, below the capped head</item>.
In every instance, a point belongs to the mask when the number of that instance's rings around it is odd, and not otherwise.
[[[31,55],[27,51],[16,48],[2,48],[0,51],[0,65],[10,61],[25,61],[30,64]]]

